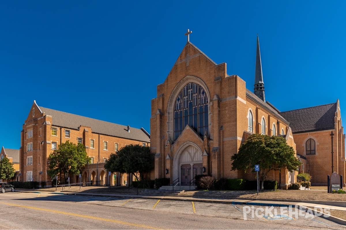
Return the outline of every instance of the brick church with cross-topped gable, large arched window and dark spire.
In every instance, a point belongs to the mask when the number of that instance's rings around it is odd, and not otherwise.
[[[298,153],[312,183],[326,184],[331,173],[331,131],[334,133],[334,171],[345,175],[345,136],[339,101],[280,112],[265,100],[260,46],[257,37],[253,91],[237,75],[227,74],[188,41],[152,99],[151,151],[155,178],[168,177],[182,185],[198,174],[256,180],[255,173],[231,171],[231,156],[253,133],[281,135]],[[311,115],[314,115],[311,117]],[[282,188],[297,181],[297,172],[281,170]],[[268,180],[280,180],[273,171]]]

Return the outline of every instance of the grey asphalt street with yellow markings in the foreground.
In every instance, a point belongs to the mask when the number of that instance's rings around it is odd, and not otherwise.
[[[274,208],[279,214],[257,217],[251,208],[190,201],[7,192],[0,194],[0,229],[345,229],[312,215],[292,218],[280,215],[280,208]]]

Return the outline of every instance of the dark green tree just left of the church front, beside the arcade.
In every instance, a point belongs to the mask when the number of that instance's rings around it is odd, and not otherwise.
[[[154,154],[147,146],[130,144],[116,153],[111,153],[104,168],[111,172],[133,173],[138,181],[144,181],[154,168]]]

